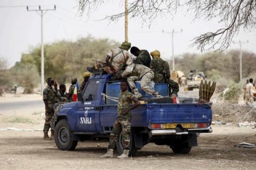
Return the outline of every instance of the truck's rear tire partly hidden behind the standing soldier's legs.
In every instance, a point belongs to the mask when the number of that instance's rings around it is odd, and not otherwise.
[[[118,140],[116,142],[116,149],[118,151],[119,155],[123,154],[124,150],[124,144],[123,144],[123,135],[122,132],[118,137]],[[137,152],[137,148],[135,148],[135,142],[134,142],[134,134],[133,134],[133,129],[131,129],[131,138],[130,138],[130,147],[129,147],[129,157],[135,156]]]

